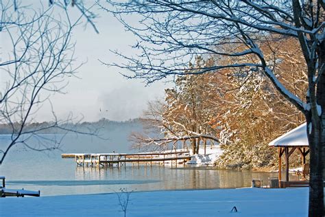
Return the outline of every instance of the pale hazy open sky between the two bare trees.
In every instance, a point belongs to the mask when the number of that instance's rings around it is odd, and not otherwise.
[[[75,64],[85,62],[78,69],[79,78],[69,78],[65,94],[51,96],[51,103],[56,115],[64,119],[73,113],[75,117],[83,117],[84,121],[95,122],[106,118],[124,121],[140,117],[149,100],[163,99],[165,82],[155,82],[146,87],[144,80],[126,79],[119,71],[108,68],[103,62],[121,62],[109,50],[119,50],[132,54],[130,45],[135,38],[130,32],[125,32],[123,25],[108,12],[94,10],[99,14],[95,19],[99,34],[88,25],[80,25],[73,32],[76,41]],[[75,13],[75,9],[71,9]],[[121,71],[125,72],[125,71]],[[45,104],[36,114],[37,121],[49,120],[49,104]]]

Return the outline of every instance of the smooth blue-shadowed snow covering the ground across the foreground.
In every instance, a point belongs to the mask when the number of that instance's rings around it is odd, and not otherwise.
[[[126,216],[307,216],[308,194],[306,187],[134,192]],[[234,206],[238,212],[230,212]],[[123,216],[123,212],[117,194],[91,194],[0,198],[0,216]]]

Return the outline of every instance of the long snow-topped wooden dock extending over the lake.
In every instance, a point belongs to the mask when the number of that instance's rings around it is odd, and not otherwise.
[[[112,166],[114,164],[125,165],[125,163],[163,163],[175,161],[185,163],[191,159],[189,151],[177,152],[147,152],[135,154],[101,153],[101,154],[62,154],[62,158],[74,158],[79,166]],[[180,161],[180,162],[179,162]]]

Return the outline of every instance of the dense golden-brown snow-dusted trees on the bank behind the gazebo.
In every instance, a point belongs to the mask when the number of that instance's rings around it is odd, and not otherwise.
[[[265,59],[274,62],[274,73],[286,82],[288,89],[295,91],[296,95],[306,92],[306,65],[295,41],[282,38],[272,45],[261,45],[261,49]],[[261,71],[243,68],[227,69],[223,73],[226,79],[220,88],[224,89],[224,99],[219,98],[217,102],[226,100],[227,104],[218,106],[224,111],[215,117],[215,124],[221,128],[219,139],[225,152],[217,165],[223,168],[274,166],[276,150],[267,144],[302,124],[302,113],[272,87]],[[221,80],[225,76],[219,77]],[[295,159],[300,160],[298,156]]]

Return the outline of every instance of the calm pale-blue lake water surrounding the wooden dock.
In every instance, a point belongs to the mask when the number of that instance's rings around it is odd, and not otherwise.
[[[120,135],[111,135],[109,141],[85,136],[65,139],[64,152],[131,152],[128,141]],[[8,137],[1,136],[4,144]],[[125,144],[112,146],[108,144]],[[59,151],[34,152],[16,147],[0,166],[0,176],[6,176],[7,187],[40,190],[43,196],[63,194],[98,194],[128,190],[185,190],[229,187],[249,187],[252,179],[277,174],[236,170],[215,170],[208,167],[158,165],[127,165],[121,168],[76,167],[73,159],[61,159]]]

